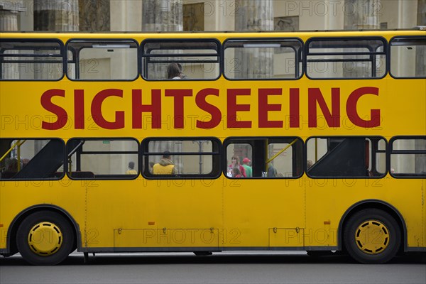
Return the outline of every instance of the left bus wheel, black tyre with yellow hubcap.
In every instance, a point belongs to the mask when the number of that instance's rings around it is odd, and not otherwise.
[[[28,263],[52,266],[71,253],[74,234],[70,222],[60,214],[40,211],[26,217],[18,227],[16,245]]]

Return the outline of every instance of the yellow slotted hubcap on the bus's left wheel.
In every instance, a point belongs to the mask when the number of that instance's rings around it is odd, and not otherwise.
[[[33,226],[28,234],[28,245],[31,251],[39,256],[51,256],[62,246],[62,232],[50,222],[40,222]]]

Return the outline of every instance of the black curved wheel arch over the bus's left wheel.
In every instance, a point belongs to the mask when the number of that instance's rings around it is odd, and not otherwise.
[[[72,218],[71,214],[67,212],[67,210],[63,209],[62,207],[53,205],[53,204],[36,204],[31,207],[28,207],[26,209],[23,209],[19,214],[16,215],[16,217],[12,220],[11,226],[9,226],[9,229],[7,231],[7,238],[6,238],[6,253],[3,253],[4,256],[12,256],[13,254],[18,252],[18,248],[16,245],[16,234],[18,232],[19,225],[23,222],[26,217],[28,217],[30,214],[33,214],[38,211],[51,211],[56,212],[62,215],[62,217],[65,217],[68,222],[70,222],[72,231],[74,233],[74,239],[75,239],[75,247],[77,249],[81,249],[81,234],[80,234],[80,226],[75,222],[75,219]]]

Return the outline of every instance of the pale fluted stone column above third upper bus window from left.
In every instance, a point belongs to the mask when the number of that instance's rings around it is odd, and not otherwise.
[[[182,0],[144,0],[142,31],[182,31]]]

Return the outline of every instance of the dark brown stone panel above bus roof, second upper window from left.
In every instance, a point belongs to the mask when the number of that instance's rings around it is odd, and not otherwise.
[[[109,0],[79,0],[80,31],[110,31]]]

